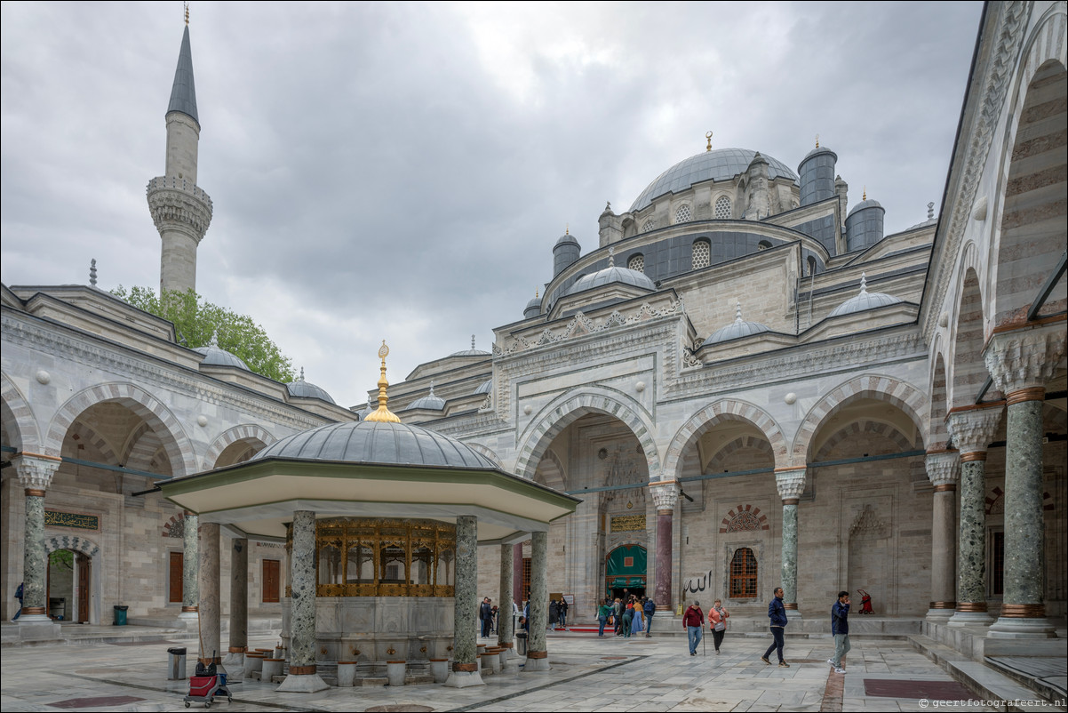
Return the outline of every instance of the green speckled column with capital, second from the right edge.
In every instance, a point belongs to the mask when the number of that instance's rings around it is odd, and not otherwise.
[[[957,537],[957,610],[951,626],[986,625],[987,447],[994,439],[1005,404],[963,406],[949,412],[946,427],[960,453],[960,524]]]

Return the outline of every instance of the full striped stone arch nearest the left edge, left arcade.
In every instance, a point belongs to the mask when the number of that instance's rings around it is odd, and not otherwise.
[[[48,425],[44,453],[60,455],[67,430],[82,413],[98,403],[115,402],[126,406],[147,422],[163,444],[171,461],[171,474],[197,472],[197,455],[182,423],[158,399],[141,387],[122,382],[97,384],[67,399]]]

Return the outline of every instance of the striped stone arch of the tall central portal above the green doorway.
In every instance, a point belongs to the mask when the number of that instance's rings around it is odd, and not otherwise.
[[[607,414],[627,424],[645,453],[649,480],[660,477],[660,454],[653,439],[653,422],[637,401],[619,391],[602,387],[586,387],[568,391],[552,400],[537,413],[519,437],[515,472],[533,479],[537,464],[552,439],[586,414]]]

